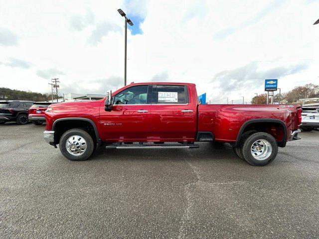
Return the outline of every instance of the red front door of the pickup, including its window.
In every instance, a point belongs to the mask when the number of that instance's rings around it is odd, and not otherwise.
[[[112,111],[100,110],[102,140],[108,142],[139,142],[151,136],[152,86],[126,88],[113,96]],[[148,102],[149,101],[149,102]]]

